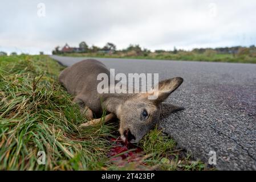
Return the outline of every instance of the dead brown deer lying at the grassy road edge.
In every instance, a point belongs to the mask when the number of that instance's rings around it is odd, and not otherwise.
[[[109,114],[103,122],[118,118],[121,139],[137,143],[159,122],[162,102],[182,84],[181,77],[160,81],[158,89],[153,87],[153,93],[158,92],[156,100],[148,100],[152,93],[98,93],[97,75],[110,72],[103,63],[94,59],[80,61],[64,69],[59,75],[59,81],[74,96],[74,102],[80,106],[80,111],[90,120],[80,125],[87,127],[96,125],[101,119],[92,119],[103,114],[105,108]],[[111,85],[109,85],[111,86]],[[178,110],[179,107],[176,107]],[[181,108],[181,107],[180,107]]]

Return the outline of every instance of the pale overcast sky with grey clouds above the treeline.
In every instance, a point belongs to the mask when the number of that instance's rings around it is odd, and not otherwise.
[[[0,0],[0,51],[129,44],[172,50],[256,44],[256,1]]]

